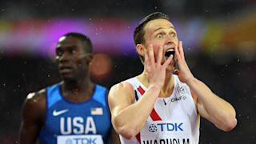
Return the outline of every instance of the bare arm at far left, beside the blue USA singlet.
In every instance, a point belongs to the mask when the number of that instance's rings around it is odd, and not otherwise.
[[[46,92],[28,94],[22,106],[22,123],[18,135],[19,144],[37,142],[46,118]]]

